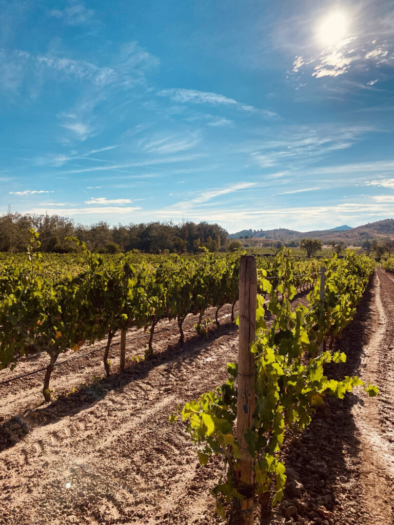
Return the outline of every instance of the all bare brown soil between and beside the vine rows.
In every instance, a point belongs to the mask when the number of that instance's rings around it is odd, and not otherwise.
[[[358,388],[343,402],[328,400],[286,447],[288,488],[273,525],[394,523],[393,306],[394,275],[379,268],[339,344],[347,363],[327,373],[358,374],[377,384],[380,395],[371,399]],[[39,405],[43,372],[0,386],[0,419],[18,416],[32,427],[0,452],[1,525],[222,522],[209,493],[222,464],[200,467],[182,425],[167,418],[178,403],[226,379],[237,329],[229,307],[219,327],[208,325],[204,340],[190,321],[183,348],[177,330],[160,332],[147,361],[132,360],[146,339],[129,341],[122,374],[115,344],[108,379],[99,379],[102,350],[57,367],[51,380],[57,398],[50,403]],[[141,335],[132,330],[128,339]],[[0,382],[45,366],[47,356],[32,360],[0,372]]]

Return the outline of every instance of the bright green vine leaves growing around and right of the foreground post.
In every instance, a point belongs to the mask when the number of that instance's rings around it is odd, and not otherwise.
[[[281,449],[286,435],[309,425],[316,406],[327,394],[342,399],[352,388],[364,384],[357,376],[329,380],[324,374],[325,364],[344,362],[346,355],[331,350],[319,353],[319,345],[328,337],[340,335],[350,322],[375,268],[374,261],[353,253],[340,261],[336,257],[325,260],[325,303],[320,303],[317,284],[308,295],[309,306],[292,310],[297,274],[285,251],[276,262],[280,278],[275,286],[267,279],[266,269],[258,270],[260,291],[269,295],[269,300],[263,308],[263,297],[257,297],[256,339],[251,347],[256,354],[255,411],[253,426],[245,434],[248,453],[253,457],[256,497],[264,495],[271,505],[283,497],[286,474]],[[305,261],[300,262],[297,271],[303,265],[308,267]],[[265,309],[274,318],[271,327],[264,320]],[[171,419],[180,417],[185,422],[201,464],[214,454],[223,457],[228,466],[226,478],[219,480],[213,494],[230,501],[242,498],[237,490],[240,451],[234,436],[237,365],[228,364],[227,372],[229,379],[221,387],[186,403]],[[372,385],[366,391],[370,396],[378,393]],[[217,510],[223,513],[219,502]]]

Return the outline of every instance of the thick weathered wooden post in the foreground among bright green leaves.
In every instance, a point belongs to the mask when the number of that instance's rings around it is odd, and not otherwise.
[[[244,433],[252,426],[255,409],[255,358],[250,345],[256,338],[256,258],[243,255],[240,264],[240,335],[238,354],[237,442],[241,451],[239,489],[244,499],[237,523],[253,524],[254,469]]]

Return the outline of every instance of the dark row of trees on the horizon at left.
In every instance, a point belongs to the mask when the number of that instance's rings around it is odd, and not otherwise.
[[[39,233],[42,251],[68,253],[75,244],[67,237],[77,237],[94,252],[117,253],[140,250],[144,253],[197,253],[200,247],[209,251],[226,251],[227,231],[218,224],[200,222],[151,222],[110,226],[100,220],[85,226],[59,215],[22,215],[8,212],[0,217],[0,251],[26,251],[29,229]],[[231,247],[230,247],[231,248]]]

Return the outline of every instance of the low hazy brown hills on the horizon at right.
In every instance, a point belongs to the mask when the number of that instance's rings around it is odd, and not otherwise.
[[[284,243],[297,242],[303,237],[317,238],[323,244],[331,240],[344,241],[347,245],[360,245],[366,239],[375,239],[378,237],[394,239],[394,219],[378,220],[375,223],[363,224],[356,228],[350,226],[338,226],[327,230],[311,230],[310,232],[297,232],[287,228],[276,228],[271,230],[242,230],[241,232],[229,235],[231,239],[240,238],[270,239],[282,240]]]

